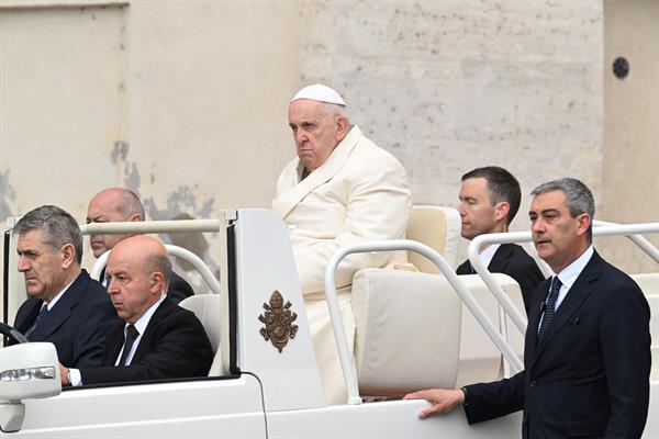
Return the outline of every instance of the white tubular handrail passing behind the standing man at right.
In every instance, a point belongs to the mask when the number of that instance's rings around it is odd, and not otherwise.
[[[659,262],[659,250],[650,244],[645,237],[638,235],[643,233],[659,233],[659,223],[641,223],[641,224],[612,224],[605,222],[595,222],[593,227],[593,236],[614,236],[625,235],[655,261]],[[490,244],[512,244],[512,243],[529,243],[532,240],[530,232],[512,232],[498,233],[477,236],[469,244],[469,261],[476,272],[482,278],[483,282],[492,294],[496,297],[504,311],[511,316],[513,323],[522,334],[526,334],[526,318],[520,313],[511,299],[503,292],[501,286],[494,281],[492,273],[482,262],[479,256],[479,249]]]

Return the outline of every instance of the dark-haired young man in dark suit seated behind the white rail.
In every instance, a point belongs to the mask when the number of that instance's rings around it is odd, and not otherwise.
[[[483,234],[507,232],[521,200],[520,183],[507,170],[488,166],[467,172],[462,176],[458,204],[462,237],[473,239]],[[528,315],[535,289],[545,280],[533,258],[515,244],[488,246],[480,250],[480,257],[491,272],[504,273],[517,281]],[[466,260],[456,272],[472,274],[476,271]]]

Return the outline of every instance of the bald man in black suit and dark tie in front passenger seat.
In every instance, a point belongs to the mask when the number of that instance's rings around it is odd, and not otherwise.
[[[190,311],[165,294],[171,273],[165,247],[149,236],[123,239],[108,258],[108,294],[121,322],[110,328],[100,368],[62,367],[63,385],[208,374],[213,351]]]

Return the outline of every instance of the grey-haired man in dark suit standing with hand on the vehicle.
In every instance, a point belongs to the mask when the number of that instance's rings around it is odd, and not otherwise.
[[[462,404],[470,424],[523,409],[524,438],[640,438],[648,413],[648,303],[638,285],[592,247],[594,201],[579,180],[537,187],[533,240],[554,272],[538,286],[526,330],[525,370],[461,390],[421,391],[420,417]]]

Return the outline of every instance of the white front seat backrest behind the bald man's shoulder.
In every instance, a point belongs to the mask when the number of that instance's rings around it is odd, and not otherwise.
[[[221,304],[220,294],[196,294],[183,299],[181,303],[179,303],[181,307],[194,313],[197,318],[199,318],[203,325],[206,336],[211,341],[211,347],[213,348],[215,357],[213,358],[209,375],[223,374],[222,359],[220,358],[222,351],[219,349],[220,336],[222,334]]]

